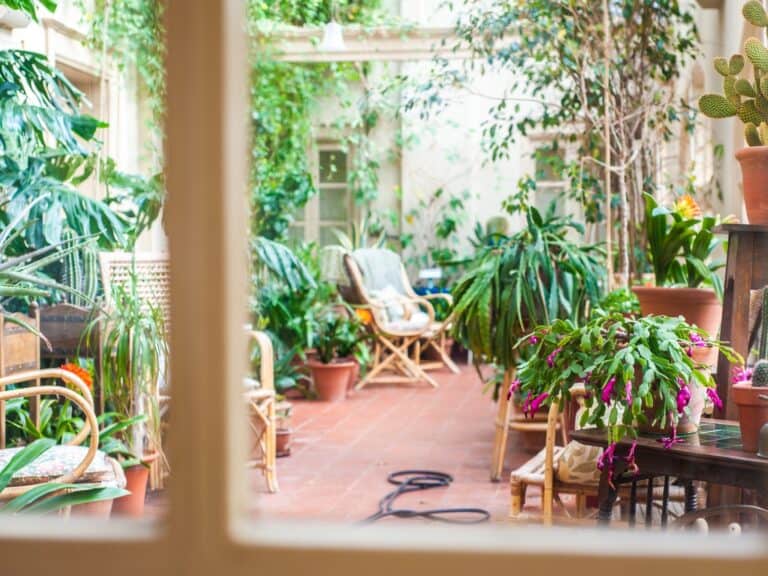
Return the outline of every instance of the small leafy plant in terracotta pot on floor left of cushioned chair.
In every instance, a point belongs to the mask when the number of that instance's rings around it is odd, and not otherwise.
[[[341,353],[348,345],[352,320],[333,309],[325,309],[316,319],[313,343],[316,357],[307,363],[315,392],[323,402],[338,402],[347,395],[355,363]]]

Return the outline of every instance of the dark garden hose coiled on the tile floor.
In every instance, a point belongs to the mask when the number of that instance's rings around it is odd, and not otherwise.
[[[395,500],[408,492],[431,490],[432,488],[447,488],[453,482],[453,476],[434,470],[400,470],[387,476],[387,482],[397,486],[392,492],[379,501],[379,511],[368,516],[363,522],[370,523],[388,516],[396,518],[426,518],[448,524],[480,524],[490,520],[491,515],[482,508],[435,508],[433,510],[408,510],[393,508]],[[456,515],[464,518],[455,518]]]

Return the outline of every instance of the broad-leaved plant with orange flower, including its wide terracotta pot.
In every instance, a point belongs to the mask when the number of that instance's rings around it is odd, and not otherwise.
[[[716,336],[722,316],[722,282],[717,271],[725,264],[713,262],[720,245],[715,235],[717,218],[702,216],[690,196],[681,197],[672,209],[645,195],[648,255],[655,286],[635,286],[643,314],[682,315],[710,336]]]

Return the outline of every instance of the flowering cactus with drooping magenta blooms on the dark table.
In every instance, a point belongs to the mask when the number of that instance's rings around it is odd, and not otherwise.
[[[713,347],[738,358],[680,317],[599,309],[581,326],[557,320],[517,345],[533,348],[512,385],[525,398],[524,411],[551,402],[562,408],[571,387],[583,384],[587,394],[579,424],[607,430],[603,465],[611,464],[623,438],[650,433],[671,446],[679,434],[696,431],[707,397],[721,404],[711,371],[696,360],[695,349]]]

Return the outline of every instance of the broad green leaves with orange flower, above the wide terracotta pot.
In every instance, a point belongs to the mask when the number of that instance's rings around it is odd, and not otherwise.
[[[699,216],[690,197],[683,197],[674,210],[659,206],[650,194],[645,196],[646,231],[657,286],[712,286],[722,297],[722,281],[717,271],[724,262],[713,262],[712,255],[722,240],[714,233],[718,218]],[[690,211],[694,213],[688,213]]]

